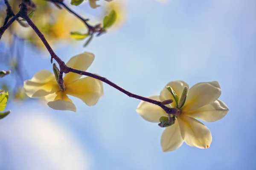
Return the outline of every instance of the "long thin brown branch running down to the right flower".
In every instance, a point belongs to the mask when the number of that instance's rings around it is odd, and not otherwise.
[[[27,11],[27,7],[24,3],[21,4],[21,9],[20,11]],[[21,13],[21,17],[23,17],[27,23],[29,24],[29,26],[31,26],[34,31],[36,32],[36,34],[38,34],[38,37],[40,37],[40,39],[42,40],[42,42],[44,43],[45,47],[47,48],[47,50],[49,51],[50,55],[51,55],[51,62],[52,62],[52,59],[55,59],[56,62],[58,62],[59,64],[59,67],[60,67],[60,77],[59,77],[59,80],[58,80],[58,84],[59,85],[64,85],[64,81],[62,79],[62,74],[65,73],[69,73],[69,72],[73,72],[73,73],[76,73],[76,74],[80,74],[80,75],[84,75],[84,76],[89,76],[89,77],[93,77],[95,79],[99,79],[100,81],[102,82],[105,82],[107,83],[108,85],[111,85],[113,88],[116,88],[118,91],[121,91],[122,93],[126,94],[127,96],[129,97],[132,97],[132,98],[136,98],[136,99],[140,99],[140,100],[143,100],[145,102],[149,102],[149,103],[152,103],[154,105],[158,105],[160,106],[161,108],[163,108],[164,111],[166,111],[166,113],[169,113],[169,114],[173,114],[175,116],[176,114],[176,109],[175,108],[168,108],[167,106],[163,105],[162,102],[160,101],[157,101],[157,100],[153,100],[153,99],[149,99],[149,98],[146,98],[146,97],[143,97],[143,96],[139,96],[137,94],[133,94],[121,87],[119,87],[118,85],[116,85],[115,83],[111,82],[110,80],[108,80],[107,78],[105,77],[101,77],[101,76],[98,76],[96,74],[92,74],[92,73],[89,73],[89,72],[86,72],[86,71],[81,71],[81,70],[77,70],[75,68],[70,68],[68,67],[65,62],[63,62],[55,53],[54,51],[52,50],[52,48],[50,47],[49,43],[47,42],[47,40],[45,39],[44,35],[41,33],[41,31],[35,26],[35,24],[32,22],[32,20],[29,19],[28,15],[27,15],[27,12],[23,12]]]

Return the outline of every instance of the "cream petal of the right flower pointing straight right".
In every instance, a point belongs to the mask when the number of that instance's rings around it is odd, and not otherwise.
[[[205,105],[195,111],[189,111],[184,114],[196,119],[201,119],[205,122],[215,122],[226,116],[229,111],[227,105],[221,100],[216,100],[209,105]]]

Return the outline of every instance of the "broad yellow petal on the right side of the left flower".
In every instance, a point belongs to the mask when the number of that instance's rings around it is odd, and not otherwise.
[[[103,96],[102,81],[85,77],[66,86],[66,93],[81,99],[86,105],[93,106]]]

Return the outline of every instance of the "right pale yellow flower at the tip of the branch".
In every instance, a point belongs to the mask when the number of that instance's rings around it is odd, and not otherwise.
[[[158,101],[172,99],[174,102],[167,106],[177,110],[176,116],[171,115],[174,124],[166,127],[163,131],[161,137],[163,152],[176,150],[183,142],[192,147],[208,148],[212,142],[211,132],[197,119],[215,122],[227,114],[229,110],[227,105],[218,99],[221,95],[218,82],[201,82],[194,85],[187,91],[187,95],[185,93],[185,103],[180,108],[178,108],[180,100],[184,99],[181,96],[184,94],[184,89],[189,88],[189,85],[183,81],[174,81],[169,82],[167,86],[170,86],[180,99],[175,100],[174,95],[166,87],[163,88],[159,96],[148,97]],[[138,105],[137,112],[149,122],[159,122],[160,117],[168,116],[159,106],[144,101]]]

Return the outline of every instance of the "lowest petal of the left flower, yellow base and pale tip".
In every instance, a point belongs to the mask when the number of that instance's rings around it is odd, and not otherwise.
[[[47,105],[54,110],[76,112],[76,105],[68,98],[64,91],[58,91],[54,101],[48,102]]]

